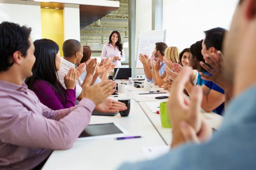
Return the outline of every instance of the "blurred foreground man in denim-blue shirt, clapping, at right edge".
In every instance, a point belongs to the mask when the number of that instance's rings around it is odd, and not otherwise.
[[[252,62],[256,58],[255,6],[255,0],[240,0],[224,40],[225,78],[234,81],[234,99],[226,109],[219,131],[212,136],[211,128],[200,114],[200,87],[193,88],[190,103],[184,102],[182,93],[191,71],[184,68],[172,85],[168,101],[172,150],[155,160],[124,164],[120,170],[255,169],[256,76],[250,74],[256,72]]]

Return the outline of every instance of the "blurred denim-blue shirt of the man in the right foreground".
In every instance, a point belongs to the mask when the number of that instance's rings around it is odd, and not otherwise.
[[[256,86],[228,106],[222,127],[202,144],[184,144],[154,160],[119,170],[254,170],[256,167]]]

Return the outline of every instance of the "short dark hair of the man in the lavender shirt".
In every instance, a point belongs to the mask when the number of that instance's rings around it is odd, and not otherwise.
[[[12,55],[20,51],[26,57],[30,47],[28,40],[31,28],[16,23],[0,23],[0,72],[6,71],[14,63]]]

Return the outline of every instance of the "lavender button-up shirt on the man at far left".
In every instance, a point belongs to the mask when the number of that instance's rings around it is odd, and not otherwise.
[[[68,149],[89,124],[94,102],[54,111],[26,84],[0,80],[0,169],[31,170],[53,149]]]

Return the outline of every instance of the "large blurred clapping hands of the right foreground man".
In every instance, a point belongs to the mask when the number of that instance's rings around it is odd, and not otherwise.
[[[171,96],[168,100],[168,114],[172,123],[172,147],[192,141],[208,140],[212,129],[206,124],[202,113],[202,88],[195,86],[192,89],[190,101],[184,96],[184,86],[190,78],[192,69],[184,68],[172,84]],[[191,137],[192,136],[192,137]]]

